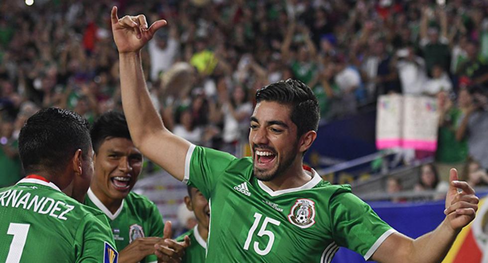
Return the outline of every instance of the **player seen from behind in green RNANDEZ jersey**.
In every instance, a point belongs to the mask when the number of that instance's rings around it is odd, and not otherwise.
[[[25,122],[18,146],[28,176],[0,189],[0,262],[116,263],[104,215],[61,192],[90,184],[88,122],[68,110],[41,110]]]

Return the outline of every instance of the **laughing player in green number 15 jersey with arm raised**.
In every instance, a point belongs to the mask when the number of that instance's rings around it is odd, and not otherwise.
[[[299,81],[257,91],[249,132],[252,157],[238,159],[172,134],[151,103],[140,59],[140,49],[166,21],[148,26],[144,15],[119,19],[116,7],[111,19],[132,140],[209,200],[208,262],[330,262],[339,247],[379,262],[440,262],[474,219],[478,198],[457,180],[455,169],[445,220],[412,240],[384,223],[349,186],[331,185],[303,166],[303,154],[317,136],[319,110],[311,89]]]

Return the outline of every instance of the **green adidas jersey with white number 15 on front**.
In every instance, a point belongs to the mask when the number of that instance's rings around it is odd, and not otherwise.
[[[306,169],[307,170],[307,169]],[[190,146],[184,182],[209,199],[208,262],[331,262],[339,247],[367,260],[395,231],[349,185],[312,180],[273,191],[252,159]]]

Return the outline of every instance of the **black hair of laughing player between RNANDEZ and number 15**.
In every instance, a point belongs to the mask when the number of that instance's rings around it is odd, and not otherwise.
[[[130,138],[129,128],[125,116],[121,112],[110,111],[102,114],[93,124],[90,132],[95,153],[107,137]]]

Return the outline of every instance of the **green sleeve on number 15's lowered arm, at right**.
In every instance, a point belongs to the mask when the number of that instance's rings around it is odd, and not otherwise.
[[[365,260],[395,232],[368,204],[352,193],[333,196],[329,208],[336,244],[356,251]]]

